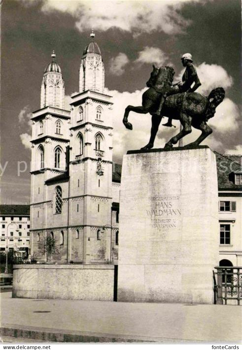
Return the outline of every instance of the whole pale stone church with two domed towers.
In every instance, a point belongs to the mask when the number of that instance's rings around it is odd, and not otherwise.
[[[53,262],[117,263],[120,166],[112,162],[112,99],[94,41],[84,49],[79,92],[64,109],[55,53],[44,71],[41,109],[32,117],[31,254]],[[50,249],[50,248],[49,248]]]

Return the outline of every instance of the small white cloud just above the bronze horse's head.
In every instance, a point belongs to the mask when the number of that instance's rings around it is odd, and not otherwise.
[[[157,63],[158,65],[164,65],[167,60],[168,57],[161,49],[146,46],[142,51],[138,52],[138,58],[134,62]]]

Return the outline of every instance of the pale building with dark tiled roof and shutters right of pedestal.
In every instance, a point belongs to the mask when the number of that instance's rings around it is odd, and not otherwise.
[[[241,156],[214,153],[219,191],[219,263],[220,266],[242,266]]]

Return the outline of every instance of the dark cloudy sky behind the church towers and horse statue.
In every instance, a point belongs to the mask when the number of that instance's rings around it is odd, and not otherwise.
[[[30,196],[32,112],[51,52],[65,82],[65,109],[78,91],[79,66],[91,30],[105,66],[105,92],[113,96],[113,161],[150,136],[151,116],[130,113],[133,130],[122,124],[128,104],[141,105],[152,64],[172,65],[181,79],[181,55],[190,52],[206,96],[226,91],[202,144],[222,154],[242,154],[240,0],[81,1],[3,0],[1,6],[1,203],[26,204]],[[163,119],[164,122],[167,119]],[[155,148],[179,131],[160,126]],[[195,140],[199,131],[184,138]]]

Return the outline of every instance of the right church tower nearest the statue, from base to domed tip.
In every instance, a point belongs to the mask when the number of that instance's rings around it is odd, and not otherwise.
[[[112,102],[104,94],[101,50],[91,41],[81,59],[79,93],[71,99],[69,260],[111,262]],[[79,237],[79,239],[75,239]]]

